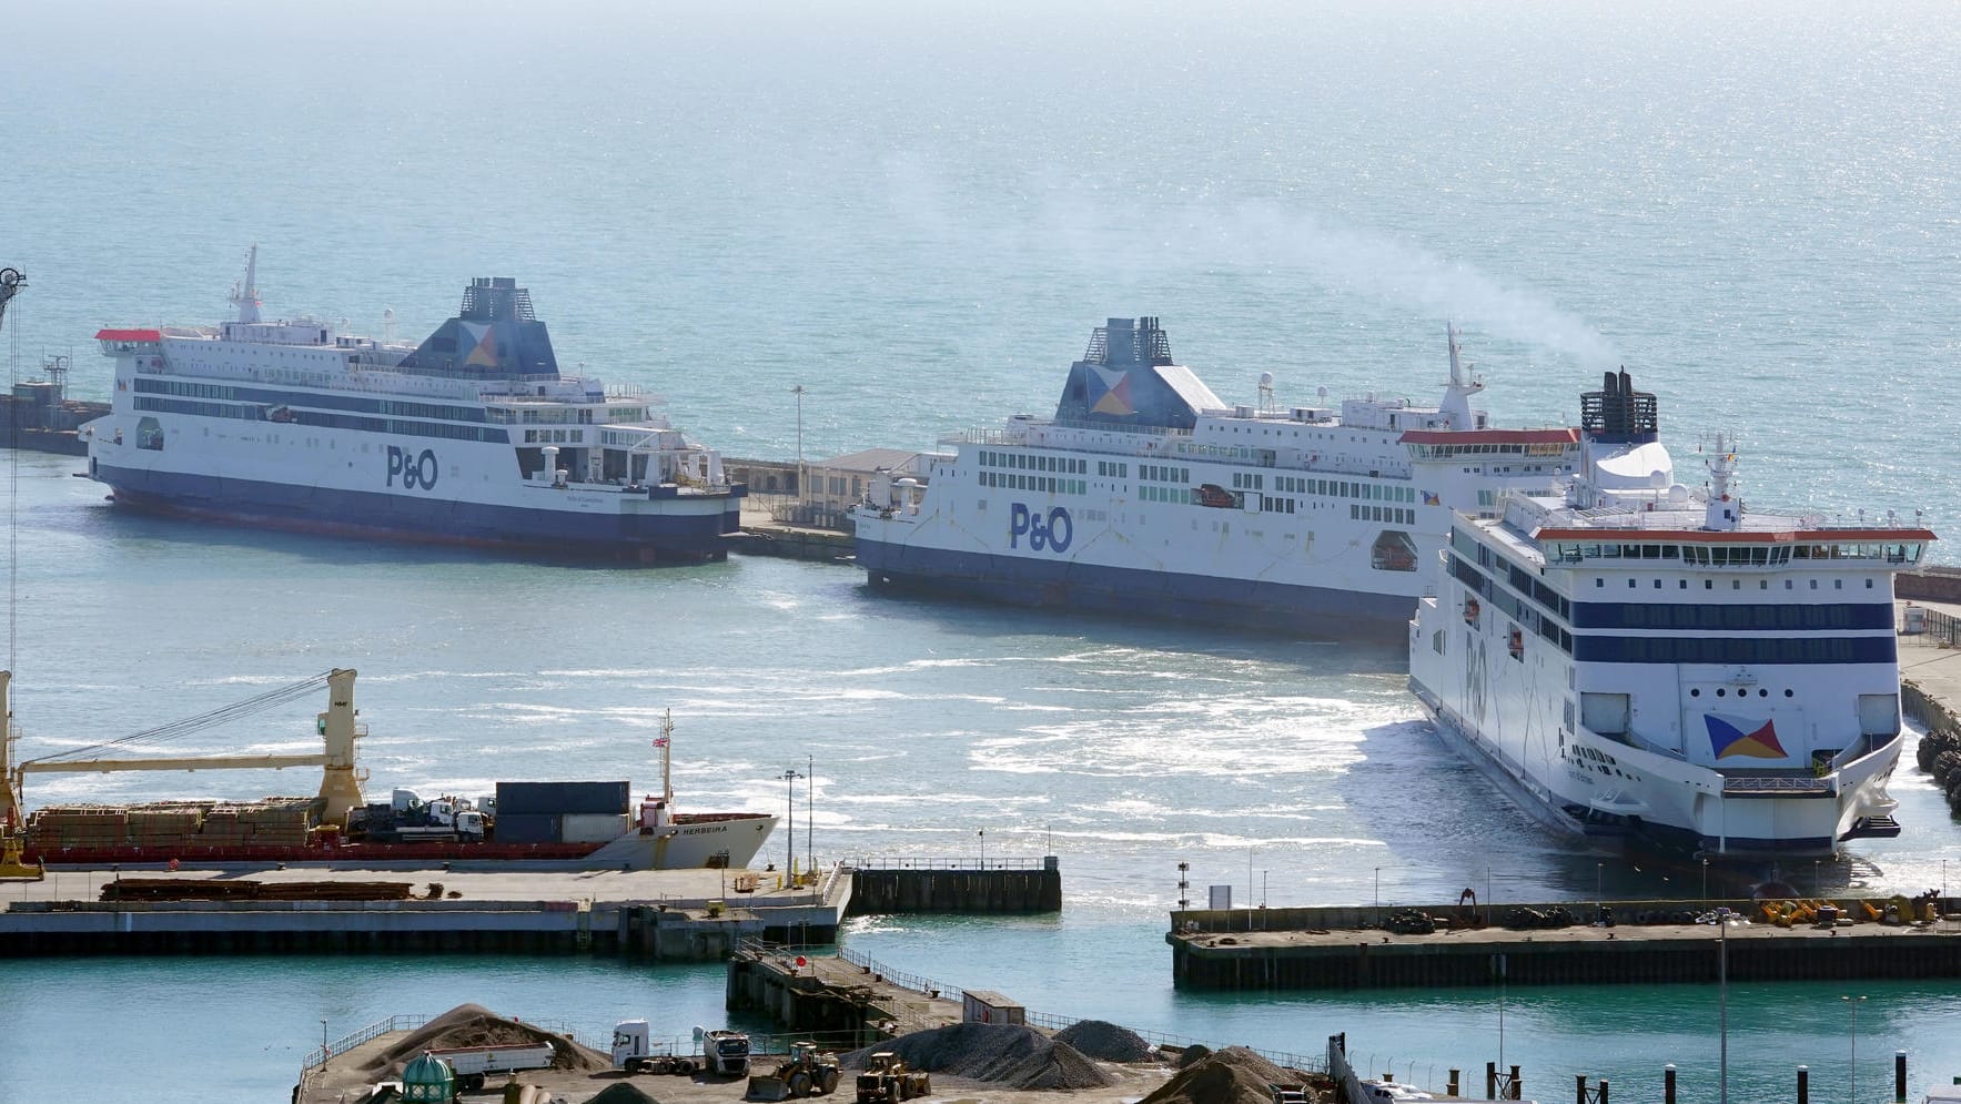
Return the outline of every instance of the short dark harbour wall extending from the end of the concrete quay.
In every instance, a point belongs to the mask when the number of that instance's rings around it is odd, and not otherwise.
[[[857,867],[847,916],[1061,908],[1063,873],[1055,855],[973,865],[918,859]]]

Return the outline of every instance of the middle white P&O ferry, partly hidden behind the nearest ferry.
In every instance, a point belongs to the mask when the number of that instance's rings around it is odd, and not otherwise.
[[[1055,418],[941,439],[926,484],[853,510],[875,588],[939,590],[1306,633],[1402,635],[1453,508],[1579,459],[1573,429],[1496,429],[1449,331],[1437,406],[1228,406],[1155,318],[1112,318]],[[1326,388],[1322,388],[1326,400]]]

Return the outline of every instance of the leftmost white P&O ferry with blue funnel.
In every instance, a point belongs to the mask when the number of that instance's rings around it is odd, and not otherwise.
[[[726,559],[741,484],[643,394],[561,376],[531,296],[478,278],[422,345],[237,318],[102,329],[82,427],[118,506],[220,522],[653,561]]]

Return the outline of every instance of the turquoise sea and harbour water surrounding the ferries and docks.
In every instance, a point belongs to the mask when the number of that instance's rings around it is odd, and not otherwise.
[[[378,329],[394,308],[404,337],[469,276],[514,275],[561,361],[667,392],[731,455],[786,459],[794,384],[806,457],[930,447],[1051,408],[1112,314],[1163,316],[1228,400],[1263,371],[1282,402],[1430,400],[1455,318],[1504,424],[1565,422],[1626,363],[1684,459],[1702,431],[1741,437],[1745,496],[1961,531],[1941,453],[1957,55],[1961,14],[1930,2],[27,4],[0,24],[0,265],[31,284],[0,353],[31,371],[73,351],[76,392],[100,396],[94,329],[220,318],[253,241],[271,314]],[[649,780],[673,708],[692,808],[782,808],[782,769],[810,757],[796,851],[1063,859],[1059,918],[861,922],[859,951],[1181,1035],[1312,1051],[1347,1029],[1420,1080],[1496,1057],[1496,994],[1179,994],[1177,863],[1277,906],[1700,892],[1543,839],[1433,741],[1392,651],[873,600],[820,565],[567,569],[214,531],[112,516],[75,467],[16,469],[29,753],[347,665],[380,784]],[[304,747],[316,708],[184,751]],[[37,778],[29,800],[304,788],[122,775]],[[1894,792],[1900,839],[1786,877],[1937,884],[1961,835],[1910,769]],[[1861,1090],[1885,1090],[1894,1047],[1916,1090],[1961,1073],[1955,986],[1857,992]],[[1800,1061],[1841,1094],[1841,994],[1737,986],[1739,1098]],[[0,1100],[75,1071],[108,1100],[157,1077],[284,1098],[320,1020],[337,1035],[461,1000],[684,1033],[718,1020],[720,975],[10,963]],[[1575,1073],[1659,1098],[1675,1061],[1683,1098],[1714,1100],[1714,1000],[1516,990],[1506,1059],[1541,1098]],[[137,1061],[96,1061],[110,1022]]]

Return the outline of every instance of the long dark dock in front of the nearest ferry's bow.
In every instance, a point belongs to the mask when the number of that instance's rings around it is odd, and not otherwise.
[[[1369,908],[1194,910],[1173,914],[1165,941],[1175,984],[1210,990],[1716,982],[1724,957],[1730,980],[1955,979],[1953,904],[1943,902],[1947,920],[1922,924],[1779,928],[1741,900],[1608,902],[1649,922],[1514,929],[1473,920],[1420,935],[1371,926]],[[1683,922],[1724,906],[1759,922]],[[1508,904],[1506,914],[1555,908]]]

